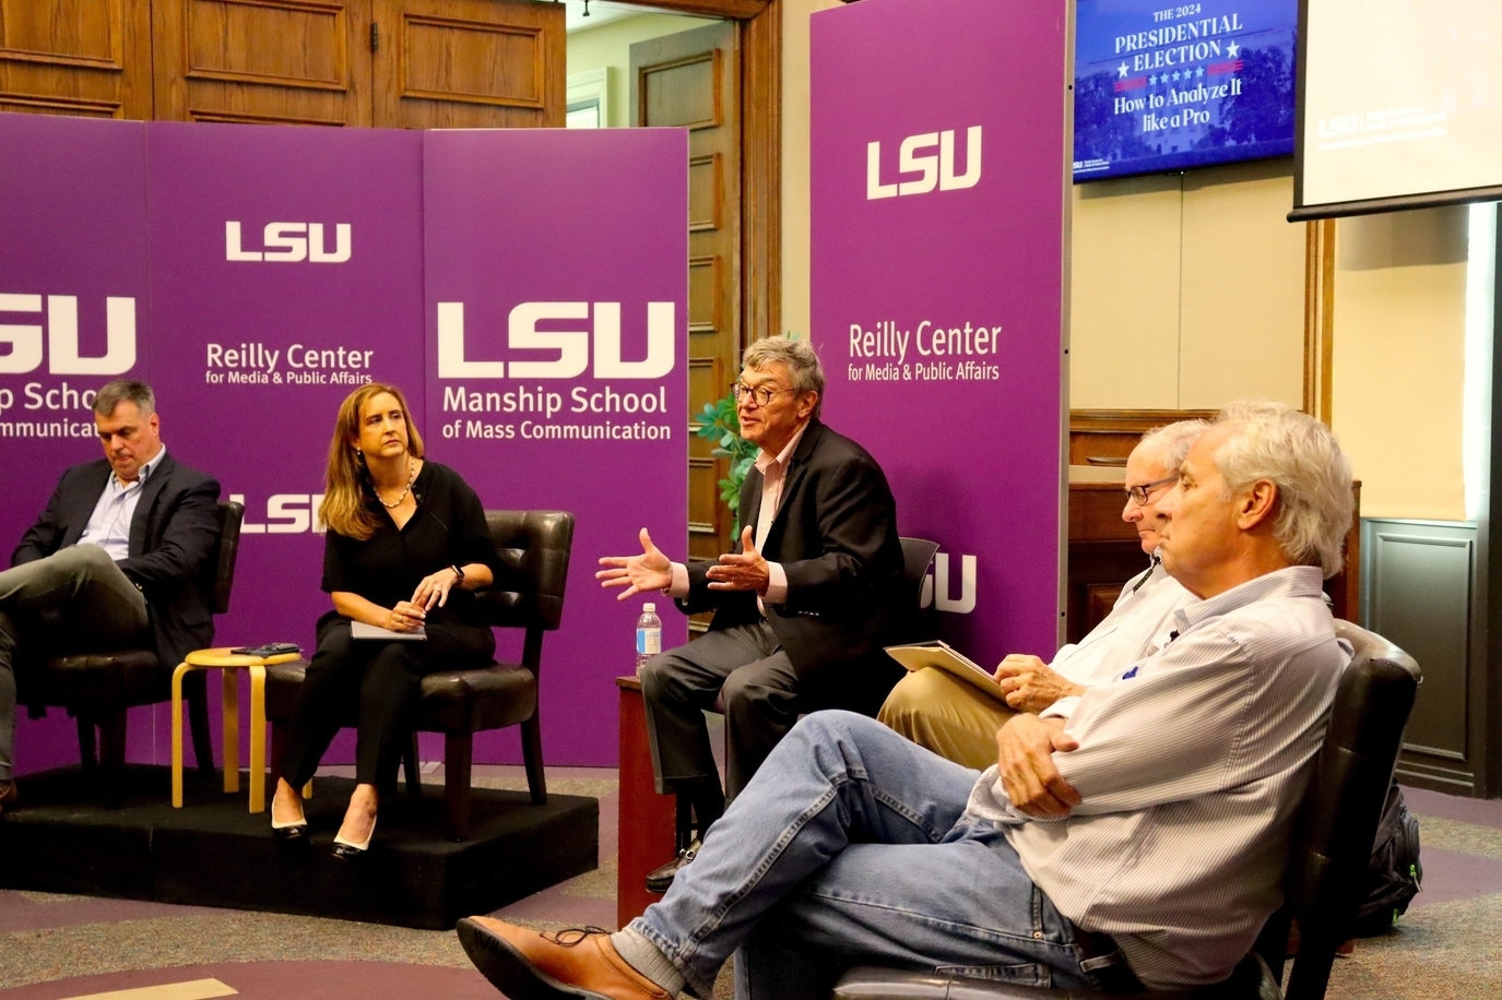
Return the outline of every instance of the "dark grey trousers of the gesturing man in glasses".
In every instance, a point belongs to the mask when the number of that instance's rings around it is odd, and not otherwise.
[[[799,674],[766,622],[706,632],[641,668],[641,701],[658,791],[719,782],[704,710],[725,701],[725,793],[734,799],[787,734]]]

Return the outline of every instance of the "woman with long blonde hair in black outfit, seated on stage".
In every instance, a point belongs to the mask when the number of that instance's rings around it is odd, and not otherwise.
[[[379,779],[397,773],[422,676],[491,662],[496,637],[470,592],[494,580],[496,548],[479,497],[452,468],[424,461],[407,401],[380,383],[356,389],[339,407],[320,517],[327,527],[323,590],[333,610],[318,619],[272,829],[282,839],[306,835],[300,788],[338,733],[341,707],[353,703],[356,785],[333,853],[357,857],[376,832]],[[351,640],[351,622],[425,629],[427,640]]]

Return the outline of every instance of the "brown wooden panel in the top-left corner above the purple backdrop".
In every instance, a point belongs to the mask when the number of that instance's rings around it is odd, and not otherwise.
[[[0,0],[0,111],[150,119],[150,0]]]

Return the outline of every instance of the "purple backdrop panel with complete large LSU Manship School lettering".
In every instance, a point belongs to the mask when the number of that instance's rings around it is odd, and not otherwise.
[[[688,135],[428,132],[422,164],[428,438],[487,506],[574,512],[544,749],[614,763],[641,602],[601,593],[596,560],[688,530]],[[667,620],[664,644],[688,641]],[[487,740],[517,760],[515,728]]]

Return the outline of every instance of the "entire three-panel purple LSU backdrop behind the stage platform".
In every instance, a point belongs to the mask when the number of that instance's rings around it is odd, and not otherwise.
[[[602,598],[592,565],[688,520],[686,162],[680,131],[0,116],[0,545],[63,468],[101,456],[93,392],[144,378],[168,452],[246,508],[216,644],[311,655],[338,405],[395,383],[428,456],[487,508],[575,514],[544,752],[613,763],[638,610]],[[165,706],[132,712],[131,758],[164,761],[168,727]],[[23,719],[21,770],[75,760],[62,712]],[[476,760],[520,760],[515,736],[478,737]]]

